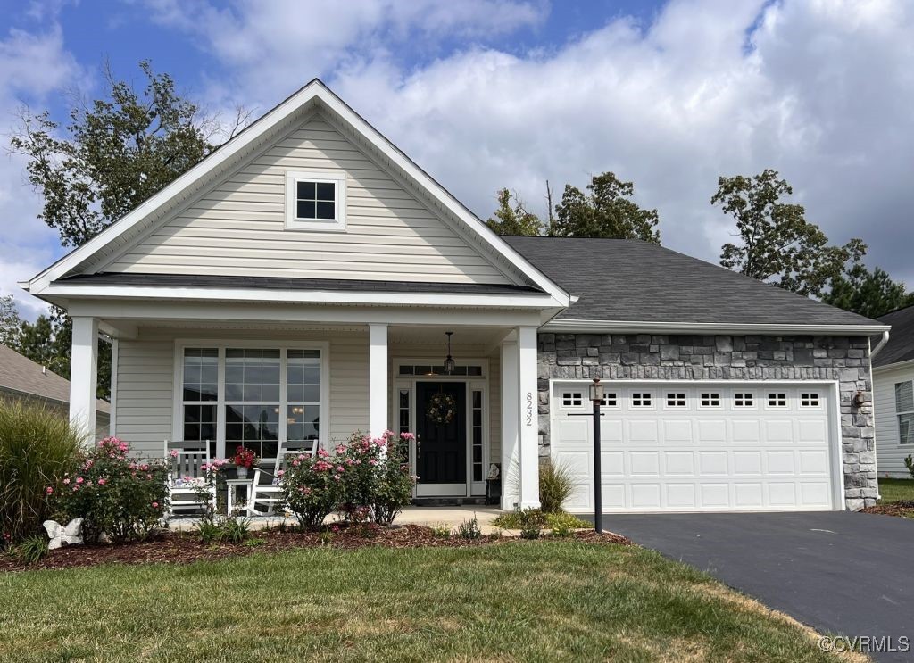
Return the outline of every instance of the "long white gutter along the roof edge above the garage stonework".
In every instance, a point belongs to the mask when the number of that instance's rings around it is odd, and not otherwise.
[[[739,322],[649,322],[601,320],[553,320],[542,332],[602,332],[602,333],[707,333],[707,334],[821,334],[825,336],[866,336],[882,333],[885,339],[890,327],[884,324],[771,324]],[[883,343],[879,344],[881,348]]]

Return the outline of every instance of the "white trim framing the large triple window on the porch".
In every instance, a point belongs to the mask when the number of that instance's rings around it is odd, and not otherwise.
[[[280,404],[286,402],[286,370],[285,360],[289,350],[318,350],[321,353],[321,426],[318,431],[318,445],[323,448],[329,446],[330,439],[330,343],[320,341],[309,342],[276,342],[264,340],[232,340],[232,339],[176,339],[175,340],[175,368],[174,382],[172,385],[172,439],[184,439],[184,351],[186,348],[216,348],[218,350],[218,396],[210,403],[216,405],[216,457],[226,457],[226,431],[225,431],[225,359],[226,348],[249,348],[261,350],[280,351]],[[280,441],[287,439],[286,417],[280,413]],[[275,458],[263,458],[263,460]]]

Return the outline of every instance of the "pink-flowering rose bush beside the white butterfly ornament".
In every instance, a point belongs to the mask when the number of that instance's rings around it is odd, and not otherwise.
[[[97,542],[102,533],[112,542],[143,539],[162,520],[168,468],[128,458],[129,451],[122,439],[105,437],[80,458],[79,470],[48,486],[64,521],[83,519],[86,541]]]

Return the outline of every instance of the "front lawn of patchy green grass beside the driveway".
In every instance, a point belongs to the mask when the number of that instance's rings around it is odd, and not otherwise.
[[[0,575],[0,660],[827,660],[637,547],[298,550]]]

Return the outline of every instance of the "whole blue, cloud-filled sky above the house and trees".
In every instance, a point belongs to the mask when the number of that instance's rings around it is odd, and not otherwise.
[[[909,0],[0,0],[0,293],[63,254],[37,218],[18,110],[66,121],[101,66],[152,61],[207,113],[258,116],[314,77],[468,205],[612,171],[664,246],[717,262],[720,175],[774,168],[831,241],[914,287]],[[619,284],[623,286],[624,284]]]

